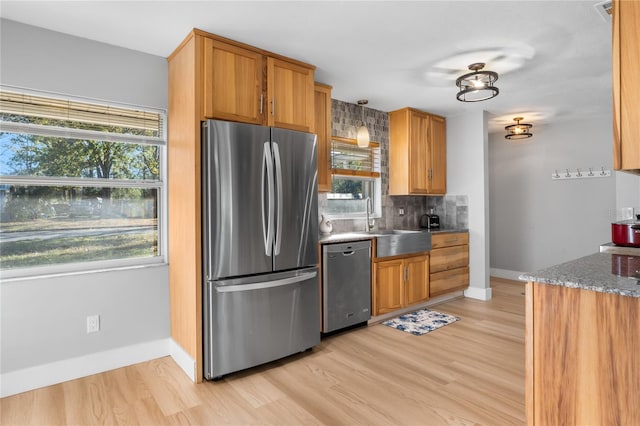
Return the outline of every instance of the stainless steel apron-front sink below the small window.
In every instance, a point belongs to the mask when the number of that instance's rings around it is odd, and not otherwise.
[[[431,234],[426,231],[387,229],[363,232],[376,237],[376,257],[399,256],[431,250]]]

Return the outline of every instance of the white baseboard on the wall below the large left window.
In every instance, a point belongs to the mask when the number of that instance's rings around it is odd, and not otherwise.
[[[171,339],[160,339],[0,374],[0,397],[51,386],[170,355]]]

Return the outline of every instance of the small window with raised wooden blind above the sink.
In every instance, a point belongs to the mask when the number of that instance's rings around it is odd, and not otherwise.
[[[367,198],[371,198],[374,216],[381,213],[380,147],[371,142],[361,148],[355,139],[331,140],[331,192],[327,194],[327,212],[332,217],[362,217]]]

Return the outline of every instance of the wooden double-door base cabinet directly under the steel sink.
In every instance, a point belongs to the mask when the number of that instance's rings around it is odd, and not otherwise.
[[[429,256],[405,256],[374,263],[373,315],[429,299]]]

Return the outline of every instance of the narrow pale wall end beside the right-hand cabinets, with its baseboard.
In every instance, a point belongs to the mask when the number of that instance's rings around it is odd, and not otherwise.
[[[447,193],[469,197],[470,284],[465,296],[481,300],[491,298],[487,150],[484,111],[447,117]]]

